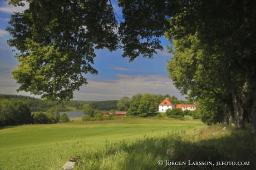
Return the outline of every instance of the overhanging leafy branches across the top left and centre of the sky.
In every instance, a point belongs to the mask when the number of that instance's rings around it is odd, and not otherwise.
[[[23,6],[23,0],[10,0]],[[83,74],[97,74],[92,67],[95,49],[124,48],[123,57],[151,58],[163,49],[168,16],[165,1],[119,1],[123,18],[110,0],[26,0],[29,8],[12,15],[7,31],[13,36],[18,68],[12,71],[17,91],[48,99],[72,99],[73,91],[87,84]],[[117,22],[117,19],[120,23]],[[122,19],[123,21],[121,22]],[[163,24],[159,24],[159,22]]]

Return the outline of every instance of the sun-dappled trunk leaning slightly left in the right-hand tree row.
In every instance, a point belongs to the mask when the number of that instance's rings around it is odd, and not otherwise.
[[[244,128],[244,121],[243,121],[243,109],[238,102],[237,96],[237,87],[235,86],[234,75],[233,72],[230,73],[230,86],[231,86],[231,93],[232,93],[232,101],[234,105],[235,115],[237,116],[237,128],[242,129]]]

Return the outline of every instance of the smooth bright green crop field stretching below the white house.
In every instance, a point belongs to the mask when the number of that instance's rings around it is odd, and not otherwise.
[[[164,136],[205,127],[200,121],[117,119],[101,122],[30,124],[0,128],[0,169],[59,169],[71,155],[104,148],[108,142]]]

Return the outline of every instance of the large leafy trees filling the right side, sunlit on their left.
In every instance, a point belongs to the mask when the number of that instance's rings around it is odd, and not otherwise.
[[[231,0],[181,3],[183,7],[172,16],[171,28],[166,32],[175,49],[169,47],[174,58],[168,64],[175,87],[190,98],[204,100],[202,107],[214,100],[222,109],[205,106],[211,113],[204,114],[204,121],[223,122],[229,114],[232,124],[233,110],[237,127],[244,128],[251,111],[254,134],[256,102],[248,100],[252,95],[256,101],[256,69],[252,64],[256,54],[255,23],[250,22],[256,16],[255,5],[252,1]]]

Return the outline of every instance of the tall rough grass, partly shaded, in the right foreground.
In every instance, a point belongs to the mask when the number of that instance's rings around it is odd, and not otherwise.
[[[213,128],[194,134],[172,132],[165,137],[145,137],[132,143],[107,143],[102,151],[85,153],[83,168],[256,169],[256,140],[249,131],[214,131]],[[235,131],[233,136],[231,131]],[[162,166],[157,164],[159,160],[163,161]]]

